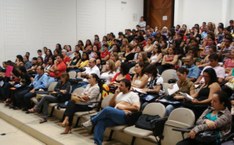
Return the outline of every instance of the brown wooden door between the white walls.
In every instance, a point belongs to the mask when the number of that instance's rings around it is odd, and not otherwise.
[[[144,16],[151,27],[173,26],[174,0],[145,0]]]

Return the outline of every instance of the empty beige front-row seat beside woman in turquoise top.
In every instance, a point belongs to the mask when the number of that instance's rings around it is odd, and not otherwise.
[[[162,145],[175,145],[178,141],[182,140],[181,133],[174,131],[173,128],[192,127],[194,122],[195,115],[192,110],[187,108],[177,108],[173,110],[164,126]]]

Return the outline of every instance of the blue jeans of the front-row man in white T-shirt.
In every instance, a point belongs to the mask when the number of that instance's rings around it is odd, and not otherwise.
[[[106,107],[96,116],[92,117],[91,122],[95,125],[94,142],[102,145],[106,127],[126,124],[125,112],[113,107]]]

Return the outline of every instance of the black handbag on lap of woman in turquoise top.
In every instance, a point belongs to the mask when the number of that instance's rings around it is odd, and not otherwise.
[[[195,136],[195,140],[202,143],[216,143],[218,140],[218,131],[208,130],[200,132]]]

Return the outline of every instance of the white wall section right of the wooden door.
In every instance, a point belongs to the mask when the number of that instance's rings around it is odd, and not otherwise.
[[[233,0],[175,0],[174,25],[219,22],[228,24],[234,19]]]

